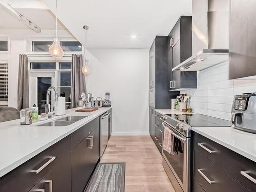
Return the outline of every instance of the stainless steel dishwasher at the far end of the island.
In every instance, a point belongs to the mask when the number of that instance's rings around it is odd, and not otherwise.
[[[102,157],[109,140],[109,113],[100,116],[100,157]]]

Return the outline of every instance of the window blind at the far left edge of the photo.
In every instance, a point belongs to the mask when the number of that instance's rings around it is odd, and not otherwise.
[[[8,105],[8,63],[0,62],[0,106]]]

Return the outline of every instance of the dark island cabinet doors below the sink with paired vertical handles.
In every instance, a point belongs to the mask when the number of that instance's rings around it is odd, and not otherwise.
[[[71,152],[72,192],[86,187],[99,160],[99,127],[80,142]]]

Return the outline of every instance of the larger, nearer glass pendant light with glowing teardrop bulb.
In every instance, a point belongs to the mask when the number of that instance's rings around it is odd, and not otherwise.
[[[64,55],[64,52],[59,44],[59,39],[57,38],[57,0],[55,12],[55,38],[53,44],[49,47],[49,54],[54,58],[61,58]]]

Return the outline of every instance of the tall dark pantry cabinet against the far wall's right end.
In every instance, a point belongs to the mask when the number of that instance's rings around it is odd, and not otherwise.
[[[171,98],[176,98],[179,92],[169,92],[168,62],[167,62],[168,36],[156,36],[150,48],[150,134],[155,140],[155,109],[171,109]]]

